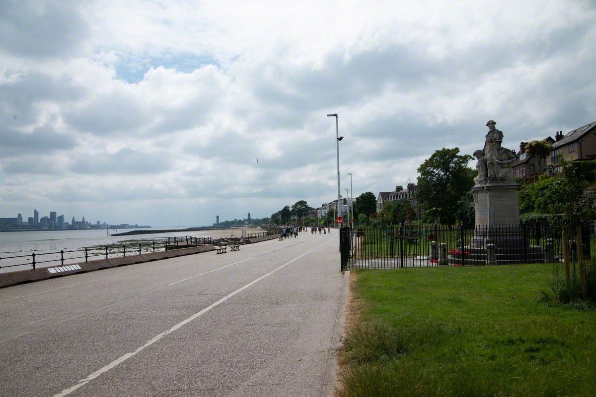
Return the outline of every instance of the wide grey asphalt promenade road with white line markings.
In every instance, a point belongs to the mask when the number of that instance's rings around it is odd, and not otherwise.
[[[337,232],[0,289],[0,395],[322,396]]]

